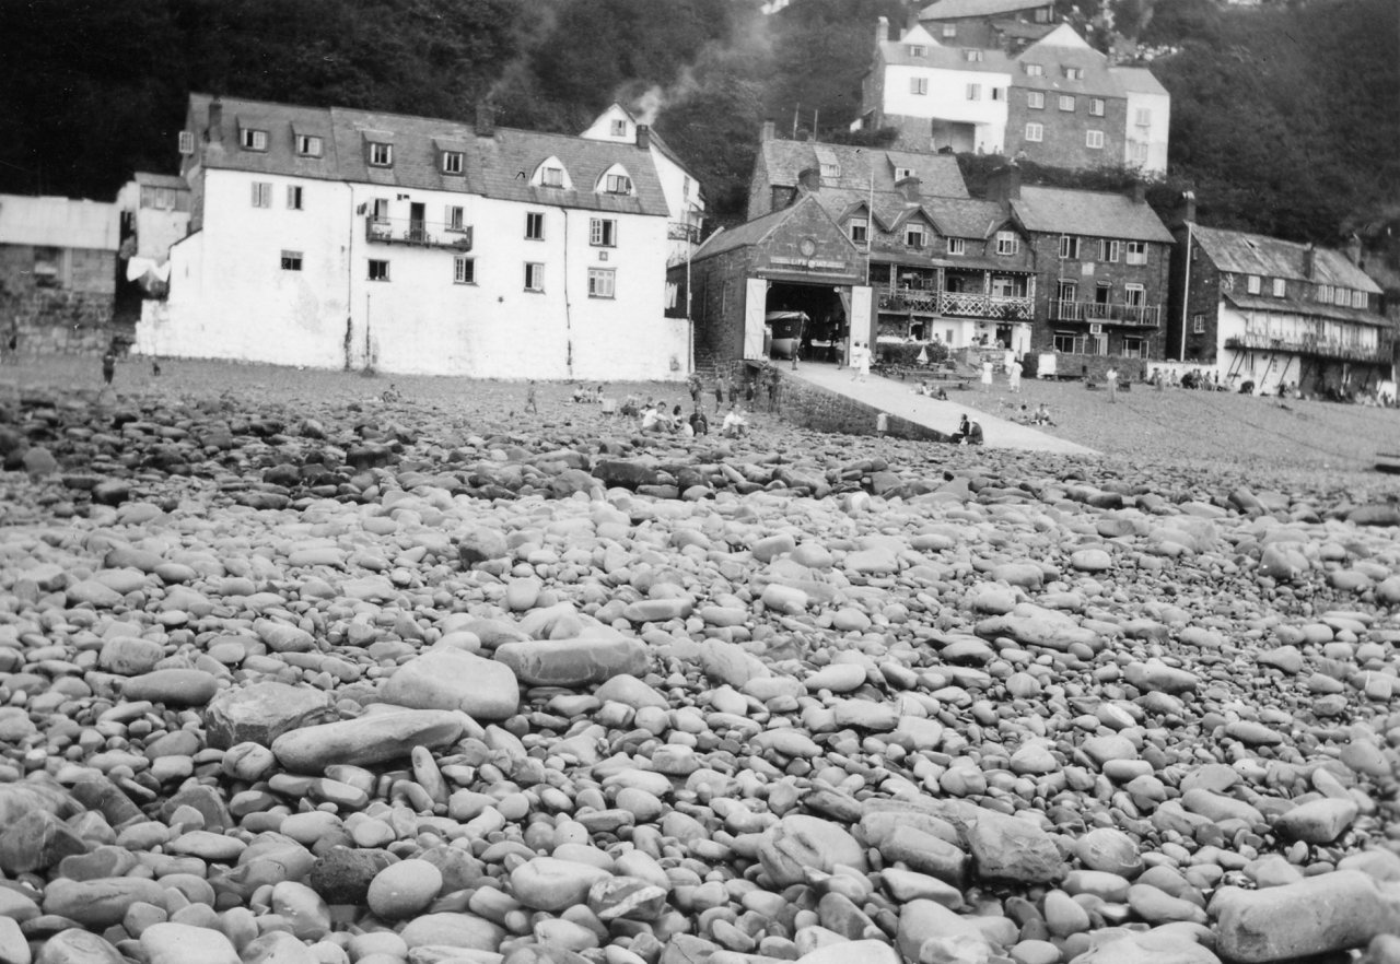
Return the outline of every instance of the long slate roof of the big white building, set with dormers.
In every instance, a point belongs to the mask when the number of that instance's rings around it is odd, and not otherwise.
[[[188,123],[199,140],[204,134],[211,98],[190,95]],[[266,151],[239,147],[239,129],[267,132]],[[386,187],[461,192],[554,207],[578,207],[620,214],[666,217],[666,199],[651,154],[636,144],[596,141],[568,134],[547,134],[497,127],[493,137],[477,137],[472,125],[353,108],[304,108],[262,101],[223,98],[223,148],[206,150],[209,168],[321,178]],[[295,136],[323,141],[321,157],[295,153]],[[392,144],[392,166],[370,165],[371,141]],[[442,151],[461,151],[461,175],[445,173]],[[573,182],[571,190],[531,185],[535,169],[559,158]],[[622,164],[631,178],[631,194],[595,192],[602,175]]]

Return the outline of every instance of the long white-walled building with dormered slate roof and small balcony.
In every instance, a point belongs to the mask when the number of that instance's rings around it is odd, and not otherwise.
[[[160,354],[479,378],[675,378],[650,130],[595,140],[193,94]]]

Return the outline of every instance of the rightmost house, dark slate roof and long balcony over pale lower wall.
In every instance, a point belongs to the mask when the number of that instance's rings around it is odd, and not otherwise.
[[[1196,224],[1176,229],[1169,357],[1214,365],[1222,385],[1341,397],[1394,378],[1380,288],[1348,250]]]

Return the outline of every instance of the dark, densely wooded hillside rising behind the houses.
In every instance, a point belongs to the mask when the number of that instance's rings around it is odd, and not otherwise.
[[[648,120],[742,215],[759,125],[848,140],[875,20],[900,0],[32,0],[0,4],[0,192],[112,197],[136,168],[169,171],[188,91],[470,118],[577,132],[612,99]],[[1400,59],[1393,0],[1221,8],[1100,7],[1176,52],[1172,178],[1203,220],[1334,242],[1393,225]],[[659,112],[659,113],[658,113]],[[976,183],[981,164],[966,166]],[[1121,172],[1032,179],[1105,186]]]

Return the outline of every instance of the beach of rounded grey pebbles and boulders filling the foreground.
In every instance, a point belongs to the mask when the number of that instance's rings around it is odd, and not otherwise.
[[[1400,961],[1393,505],[589,418],[0,403],[0,963]]]

